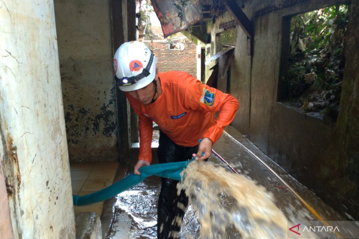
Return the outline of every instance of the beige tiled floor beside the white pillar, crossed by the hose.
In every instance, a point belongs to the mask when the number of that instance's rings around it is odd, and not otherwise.
[[[119,163],[116,161],[70,163],[73,194],[83,196],[112,184]],[[75,217],[81,212],[95,212],[102,215],[103,202],[86,206],[74,206]]]

